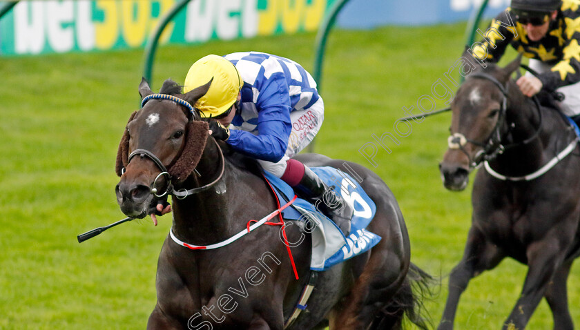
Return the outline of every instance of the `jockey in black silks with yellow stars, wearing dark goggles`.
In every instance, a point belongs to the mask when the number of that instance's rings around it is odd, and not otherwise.
[[[530,58],[529,73],[519,78],[522,93],[532,97],[540,90],[557,90],[565,96],[560,107],[565,115],[580,115],[580,3],[575,0],[512,0],[505,12],[480,33],[483,46],[472,55],[499,61],[508,44]]]

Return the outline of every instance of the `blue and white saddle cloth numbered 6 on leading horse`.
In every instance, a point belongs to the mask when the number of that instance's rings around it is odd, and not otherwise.
[[[313,271],[325,271],[335,264],[365,253],[381,237],[366,230],[376,213],[376,206],[356,180],[348,173],[329,166],[313,167],[311,170],[328,186],[334,186],[335,192],[340,193],[354,209],[348,237],[345,237],[332,220],[306,200],[297,198],[291,207],[283,211],[284,219],[305,222],[305,228],[312,238],[310,268]],[[286,182],[267,171],[264,171],[264,176],[274,187],[280,204],[285,204],[282,201],[292,200],[295,193]]]

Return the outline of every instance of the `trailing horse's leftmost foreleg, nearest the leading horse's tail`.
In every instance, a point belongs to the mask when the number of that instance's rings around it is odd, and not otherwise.
[[[505,255],[496,245],[487,242],[483,233],[472,226],[467,235],[463,258],[451,271],[449,294],[438,330],[453,329],[457,304],[461,293],[467,289],[467,284],[481,272],[497,266],[504,257]]]

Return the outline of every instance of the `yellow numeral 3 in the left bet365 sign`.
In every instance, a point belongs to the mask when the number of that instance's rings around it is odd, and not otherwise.
[[[97,0],[95,8],[100,10],[103,21],[95,21],[95,46],[110,49],[119,37],[119,11],[117,1]]]

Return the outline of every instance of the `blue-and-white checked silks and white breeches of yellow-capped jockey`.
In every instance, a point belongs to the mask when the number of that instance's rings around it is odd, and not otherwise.
[[[276,163],[300,152],[324,119],[324,104],[312,76],[295,61],[263,52],[235,52],[225,58],[244,81],[228,143]],[[282,168],[264,167],[278,177],[283,174]]]

